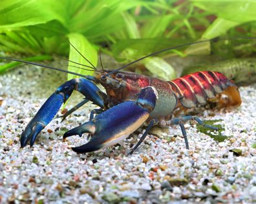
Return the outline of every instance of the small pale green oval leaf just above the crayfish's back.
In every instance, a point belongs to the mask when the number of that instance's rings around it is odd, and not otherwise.
[[[173,67],[159,57],[149,57],[145,59],[145,68],[156,77],[164,80],[173,80],[176,78],[176,72]]]

